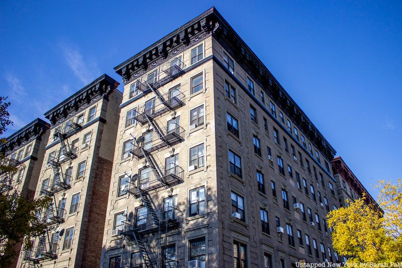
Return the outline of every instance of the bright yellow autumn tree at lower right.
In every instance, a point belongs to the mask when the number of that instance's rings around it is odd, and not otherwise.
[[[383,212],[367,205],[365,199],[363,195],[354,202],[346,200],[346,207],[328,213],[334,250],[351,263],[402,261],[400,237],[390,235],[386,228],[386,211],[383,217]]]

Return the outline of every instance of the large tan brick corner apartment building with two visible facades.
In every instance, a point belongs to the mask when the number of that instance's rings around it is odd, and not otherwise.
[[[335,150],[215,8],[115,70],[100,266],[340,261],[325,220]]]

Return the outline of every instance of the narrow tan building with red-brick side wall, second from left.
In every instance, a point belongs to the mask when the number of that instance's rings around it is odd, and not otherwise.
[[[96,267],[119,122],[119,83],[104,74],[45,113],[51,135],[35,197],[53,202],[38,211],[46,224],[18,267]]]

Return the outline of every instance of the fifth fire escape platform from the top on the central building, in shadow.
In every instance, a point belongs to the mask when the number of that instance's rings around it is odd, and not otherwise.
[[[154,210],[158,215],[159,223],[154,222],[152,213],[137,215],[132,219],[127,219],[122,225],[116,226],[124,236],[133,237],[134,235],[143,235],[161,230],[172,230],[179,227],[183,213],[177,208],[166,206],[161,210]]]

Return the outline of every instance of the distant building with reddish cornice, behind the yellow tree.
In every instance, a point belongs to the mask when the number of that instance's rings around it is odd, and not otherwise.
[[[346,206],[346,199],[353,201],[359,199],[365,194],[366,204],[372,204],[377,209],[381,210],[377,202],[364,188],[362,183],[358,180],[356,175],[352,172],[349,166],[345,163],[341,156],[337,156],[332,160],[332,170],[334,173],[336,189],[338,192],[339,205]]]

